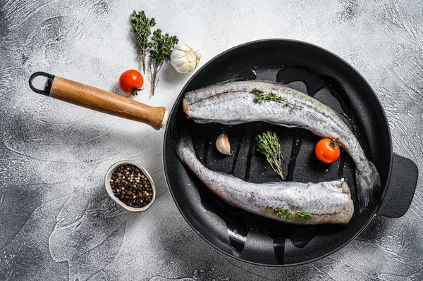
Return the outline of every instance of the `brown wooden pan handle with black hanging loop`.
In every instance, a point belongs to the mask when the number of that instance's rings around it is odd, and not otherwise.
[[[47,77],[43,90],[36,89],[32,80],[37,76]],[[48,73],[34,73],[30,77],[30,87],[34,92],[51,96],[77,106],[90,108],[118,117],[146,123],[159,130],[164,125],[168,112],[164,107],[152,107],[132,99],[113,94],[95,87],[84,85]]]

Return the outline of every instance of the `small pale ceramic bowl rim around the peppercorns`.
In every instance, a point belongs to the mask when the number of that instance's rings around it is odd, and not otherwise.
[[[113,172],[114,172],[114,170],[116,170],[116,168],[123,166],[123,165],[133,165],[133,166],[137,167],[138,169],[140,169],[142,171],[142,173],[144,173],[144,175],[147,176],[147,180],[149,180],[150,184],[152,185],[152,191],[153,191],[152,201],[150,201],[149,204],[145,205],[142,208],[133,208],[131,206],[128,206],[125,203],[123,203],[120,199],[118,199],[118,197],[114,196],[113,190],[111,189],[111,185],[110,185],[111,174],[113,174]],[[111,199],[113,199],[117,204],[119,204],[119,206],[124,208],[126,211],[130,211],[130,212],[134,212],[134,213],[143,212],[143,211],[147,210],[147,208],[152,206],[152,204],[154,203],[154,200],[156,199],[156,187],[154,185],[152,177],[149,175],[147,170],[145,170],[145,168],[142,168],[142,166],[140,166],[140,164],[135,163],[133,161],[118,161],[118,162],[114,163],[113,166],[111,166],[109,168],[109,170],[107,170],[106,176],[104,177],[104,187],[106,187],[107,194],[109,194]]]

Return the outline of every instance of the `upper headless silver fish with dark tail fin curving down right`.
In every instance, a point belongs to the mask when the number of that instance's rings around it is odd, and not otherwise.
[[[274,92],[290,104],[255,101],[252,89]],[[374,164],[364,154],[360,143],[341,118],[317,99],[276,82],[238,81],[212,85],[185,94],[183,110],[197,123],[235,125],[262,121],[286,127],[300,127],[319,137],[338,139],[355,162],[360,213],[381,194],[381,180]]]

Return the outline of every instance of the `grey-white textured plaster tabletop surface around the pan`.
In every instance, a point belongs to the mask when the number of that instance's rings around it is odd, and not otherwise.
[[[0,280],[423,280],[422,177],[403,218],[374,218],[336,254],[294,268],[251,266],[216,252],[178,213],[163,132],[27,85],[44,70],[118,92],[119,75],[140,68],[133,9],[200,49],[202,64],[254,39],[300,39],[359,70],[385,108],[394,151],[422,170],[423,5],[396,2],[1,0]],[[171,108],[190,75],[165,65],[159,77],[156,96],[147,83],[135,100]],[[146,213],[125,213],[104,192],[106,169],[125,158],[156,182]]]

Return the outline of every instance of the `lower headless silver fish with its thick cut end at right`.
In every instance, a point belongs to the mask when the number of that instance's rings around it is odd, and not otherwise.
[[[209,170],[195,156],[190,145],[179,142],[176,154],[183,163],[214,194],[232,206],[258,216],[296,225],[347,224],[354,213],[350,189],[344,180],[331,182],[245,182],[225,173]],[[310,218],[292,220],[277,216],[266,207],[288,208],[291,211],[311,213]]]

